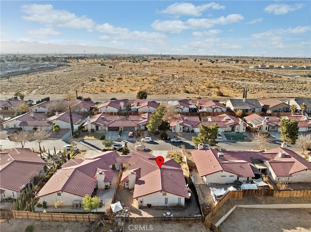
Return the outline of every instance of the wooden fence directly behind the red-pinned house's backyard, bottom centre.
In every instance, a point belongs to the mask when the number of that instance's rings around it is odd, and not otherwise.
[[[124,223],[201,222],[203,217],[124,217]]]

